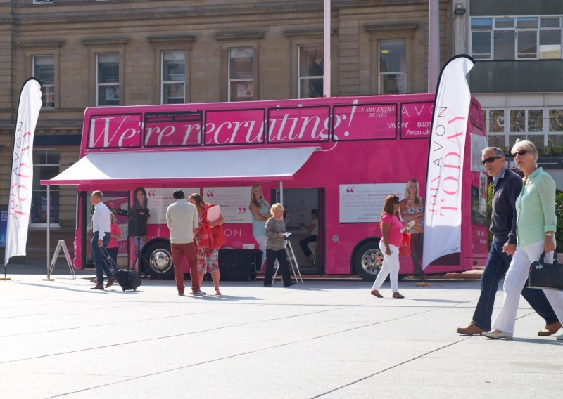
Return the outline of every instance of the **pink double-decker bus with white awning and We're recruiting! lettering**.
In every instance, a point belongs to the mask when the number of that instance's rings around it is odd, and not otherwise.
[[[289,242],[301,273],[359,275],[379,272],[379,216],[388,194],[401,199],[415,178],[425,196],[434,94],[89,107],[84,112],[80,160],[46,185],[77,185],[77,268],[91,263],[89,195],[101,190],[123,233],[121,266],[172,277],[165,211],[172,192],[200,193],[226,219],[225,248],[258,249],[249,204],[255,183],[270,204],[288,211]],[[481,107],[472,99],[462,174],[459,254],[431,263],[426,274],[470,270],[487,256],[486,146]],[[135,215],[148,209],[146,230]],[[317,240],[300,245],[318,214]],[[144,211],[141,211],[144,213]],[[433,243],[434,244],[434,243]],[[439,245],[439,242],[435,243]],[[221,255],[220,255],[221,258]],[[410,256],[400,274],[412,273]],[[186,269],[186,273],[188,270]]]

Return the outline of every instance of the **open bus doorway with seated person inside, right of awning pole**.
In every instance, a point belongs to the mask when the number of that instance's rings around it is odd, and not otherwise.
[[[284,188],[286,229],[301,273],[322,270],[322,189]],[[313,225],[315,225],[313,227]]]

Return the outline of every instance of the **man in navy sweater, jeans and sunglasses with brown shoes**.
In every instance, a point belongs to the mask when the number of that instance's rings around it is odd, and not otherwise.
[[[481,163],[487,174],[493,177],[493,211],[491,213],[491,252],[481,277],[481,295],[473,320],[468,327],[458,328],[457,333],[475,335],[491,329],[491,315],[495,304],[498,282],[505,276],[512,254],[516,251],[516,199],[522,190],[522,178],[506,167],[505,154],[496,147],[487,147],[481,151]],[[526,283],[527,285],[527,283]],[[533,310],[545,319],[545,330],[538,331],[539,336],[555,334],[561,323],[541,289],[524,286],[522,296]]]

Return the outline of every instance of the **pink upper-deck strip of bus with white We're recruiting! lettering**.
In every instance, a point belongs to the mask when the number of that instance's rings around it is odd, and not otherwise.
[[[91,117],[88,148],[322,143],[429,136],[432,103],[358,103]],[[203,117],[203,120],[202,120]],[[205,126],[203,129],[202,126]],[[265,136],[267,131],[267,136]]]

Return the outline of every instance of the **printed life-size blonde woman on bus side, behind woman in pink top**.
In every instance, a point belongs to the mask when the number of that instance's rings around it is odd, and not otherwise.
[[[414,221],[410,233],[410,256],[415,275],[422,275],[422,238],[424,232],[424,203],[419,196],[420,186],[417,179],[412,178],[405,187],[405,199],[399,204],[400,216],[406,223]]]

